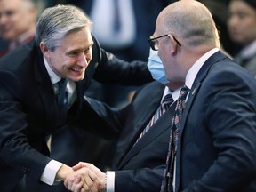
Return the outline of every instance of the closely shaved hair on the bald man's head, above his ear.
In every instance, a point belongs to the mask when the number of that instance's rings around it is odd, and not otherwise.
[[[184,4],[183,4],[184,5]],[[164,17],[164,28],[192,46],[211,44],[220,47],[220,36],[211,12],[199,2],[189,7],[171,4]],[[191,5],[191,4],[190,4]],[[186,6],[186,4],[185,4]]]

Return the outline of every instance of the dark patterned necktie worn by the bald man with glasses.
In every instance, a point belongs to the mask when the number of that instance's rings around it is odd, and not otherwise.
[[[170,132],[170,142],[169,150],[166,159],[166,168],[164,170],[164,180],[161,186],[161,192],[172,191],[172,174],[174,168],[174,160],[177,151],[177,142],[180,130],[181,115],[183,109],[185,108],[186,98],[189,89],[184,85],[180,90],[180,97],[177,100],[174,116],[172,117],[171,132]]]

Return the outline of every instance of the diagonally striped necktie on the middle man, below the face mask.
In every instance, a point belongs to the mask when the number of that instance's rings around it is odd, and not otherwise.
[[[157,108],[155,115],[152,116],[151,120],[149,121],[149,123],[147,124],[147,126],[145,127],[143,132],[140,133],[140,136],[139,136],[138,140],[135,142],[135,144],[142,138],[142,136],[146,132],[148,132],[149,128],[153,124],[155,124],[156,121],[167,111],[167,109],[171,106],[172,102],[173,102],[172,94],[167,94],[167,95],[164,96],[164,100],[162,101],[159,108]]]

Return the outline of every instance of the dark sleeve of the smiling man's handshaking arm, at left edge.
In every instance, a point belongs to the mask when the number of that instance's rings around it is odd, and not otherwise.
[[[1,159],[19,173],[28,174],[28,177],[39,180],[45,165],[51,159],[28,144],[27,115],[19,98],[16,97],[21,92],[18,79],[11,73],[3,71],[0,76]],[[0,174],[5,175],[4,172]]]

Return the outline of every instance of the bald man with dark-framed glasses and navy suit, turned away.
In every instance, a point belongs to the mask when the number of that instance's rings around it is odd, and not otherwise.
[[[162,36],[151,45],[166,78],[189,89],[161,191],[256,191],[256,81],[220,52],[211,12],[197,1],[170,4],[153,36]]]

